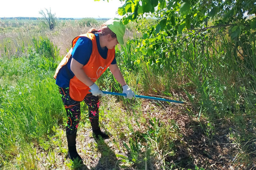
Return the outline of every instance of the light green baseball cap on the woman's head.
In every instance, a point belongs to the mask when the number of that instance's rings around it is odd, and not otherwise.
[[[122,21],[118,18],[109,19],[106,22],[108,28],[116,34],[116,38],[119,44],[124,44],[124,32],[125,27]]]

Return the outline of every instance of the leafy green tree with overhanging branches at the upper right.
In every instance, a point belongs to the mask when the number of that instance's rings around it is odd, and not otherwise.
[[[184,41],[197,40],[204,51],[206,43],[212,46],[214,40],[218,41],[218,35],[228,35],[234,54],[242,56],[239,62],[243,62],[246,74],[256,87],[255,0],[126,0],[118,8],[118,14],[123,16],[125,25],[145,17],[156,18],[155,25],[143,29],[143,38],[135,41],[139,42],[136,51],[145,54],[143,58],[148,59],[150,65],[161,66]],[[208,39],[207,33],[211,32],[212,39]],[[240,59],[238,55],[234,57],[234,60]]]

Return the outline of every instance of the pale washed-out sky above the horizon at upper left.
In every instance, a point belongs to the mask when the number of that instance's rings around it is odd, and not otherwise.
[[[3,0],[0,17],[41,17],[40,10],[51,8],[57,18],[114,18],[120,6],[119,0]]]

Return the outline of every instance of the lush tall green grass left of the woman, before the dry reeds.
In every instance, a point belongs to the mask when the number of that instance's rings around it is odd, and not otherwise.
[[[42,67],[49,60],[52,43],[41,40],[51,46],[37,52],[29,49],[28,56],[0,58],[0,165],[20,152],[24,163],[22,155],[25,159],[31,147],[26,144],[38,143],[63,122],[63,104],[52,78],[56,64],[50,60],[50,67]],[[51,56],[57,57],[56,53]]]

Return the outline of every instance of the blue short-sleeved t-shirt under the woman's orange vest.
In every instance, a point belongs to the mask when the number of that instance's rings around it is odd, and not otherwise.
[[[108,48],[105,47],[105,49],[102,49],[100,47],[99,34],[95,34],[95,38],[96,38],[97,47],[98,47],[100,56],[103,59],[106,59],[108,54]],[[91,54],[92,54],[92,40],[87,37],[80,37],[79,39],[77,39],[76,44],[72,50],[70,59],[68,60],[66,66],[63,66],[60,68],[57,74],[56,84],[62,88],[69,87],[69,81],[75,75],[70,69],[71,59],[74,58],[79,63],[85,65],[89,61]],[[116,57],[114,58],[111,64],[116,64]],[[68,69],[70,74],[68,74],[66,69]]]

